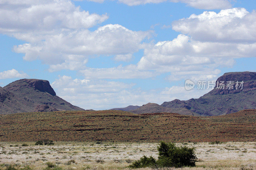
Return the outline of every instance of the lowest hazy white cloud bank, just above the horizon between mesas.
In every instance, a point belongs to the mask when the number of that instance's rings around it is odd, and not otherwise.
[[[110,109],[149,102],[162,104],[174,99],[187,100],[200,97],[205,90],[186,91],[184,86],[166,87],[160,90],[133,88],[134,84],[116,81],[72,79],[62,76],[52,84],[58,96],[84,109]]]

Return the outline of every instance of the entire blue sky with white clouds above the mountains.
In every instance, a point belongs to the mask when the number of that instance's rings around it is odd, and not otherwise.
[[[48,80],[84,109],[199,98],[256,71],[255,0],[0,0],[0,86]]]

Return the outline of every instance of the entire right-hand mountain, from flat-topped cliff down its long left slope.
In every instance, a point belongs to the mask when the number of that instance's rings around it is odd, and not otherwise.
[[[229,81],[234,82],[229,89]],[[236,81],[243,83],[243,88],[236,88]],[[223,82],[224,89],[219,89]],[[241,85],[240,83],[239,85]],[[256,108],[256,72],[229,72],[219,77],[215,88],[198,99],[172,100],[161,104],[168,108],[187,108],[202,116],[226,115],[244,109]],[[181,111],[175,113],[182,114]]]

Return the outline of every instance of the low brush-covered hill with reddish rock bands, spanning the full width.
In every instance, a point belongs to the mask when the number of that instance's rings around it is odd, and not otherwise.
[[[0,141],[255,141],[256,110],[223,116],[125,111],[57,111],[0,115]]]

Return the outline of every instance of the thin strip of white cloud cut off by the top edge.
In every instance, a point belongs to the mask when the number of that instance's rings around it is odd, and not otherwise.
[[[88,0],[93,2],[104,2],[104,0]],[[141,4],[158,4],[162,2],[168,2],[168,0],[118,0],[121,3],[127,4],[129,6],[141,5]],[[228,0],[170,0],[174,3],[185,3],[188,6],[197,9],[227,9],[231,8],[232,5]]]

